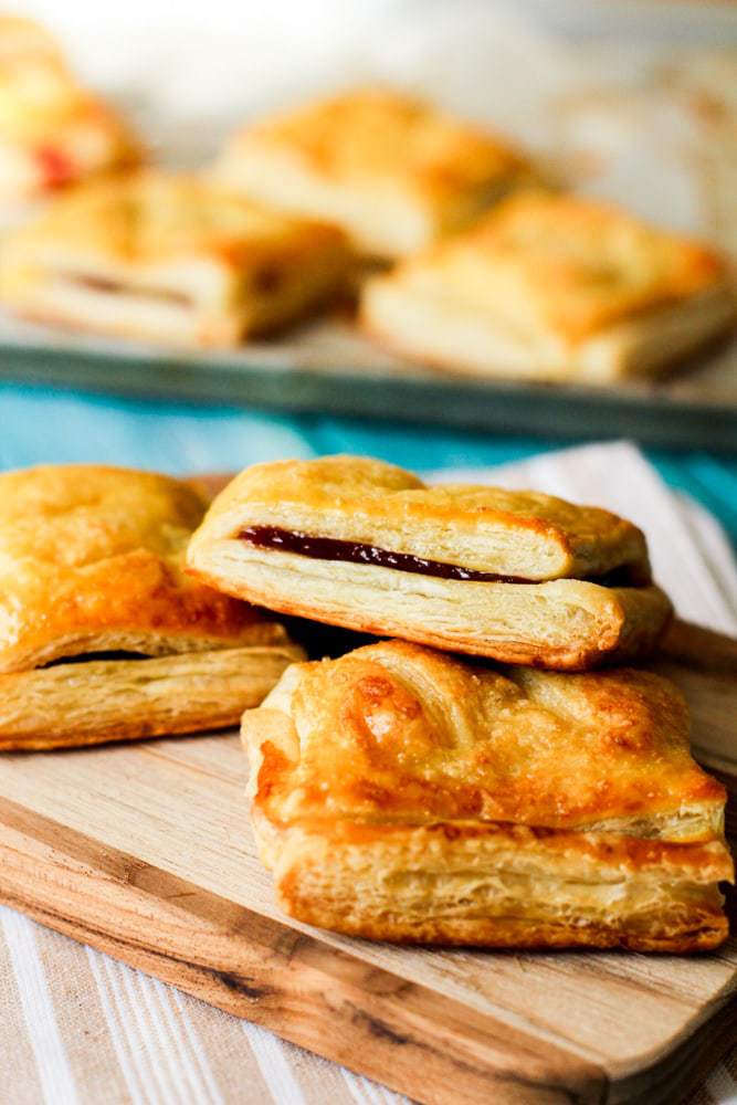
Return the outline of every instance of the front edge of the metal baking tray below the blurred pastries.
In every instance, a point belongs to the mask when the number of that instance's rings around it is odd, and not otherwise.
[[[182,354],[0,320],[0,378],[155,399],[314,411],[547,438],[629,436],[737,452],[737,341],[656,382],[482,380],[408,365],[322,320],[233,352]]]

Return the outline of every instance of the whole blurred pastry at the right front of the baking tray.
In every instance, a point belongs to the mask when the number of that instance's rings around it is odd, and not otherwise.
[[[362,295],[365,328],[412,359],[583,383],[655,376],[735,318],[713,250],[540,191],[513,196]]]

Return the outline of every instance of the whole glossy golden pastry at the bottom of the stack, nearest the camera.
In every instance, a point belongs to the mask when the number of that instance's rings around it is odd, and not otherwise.
[[[281,906],[370,939],[713,948],[724,788],[656,675],[493,671],[400,641],[296,664],[242,723]]]

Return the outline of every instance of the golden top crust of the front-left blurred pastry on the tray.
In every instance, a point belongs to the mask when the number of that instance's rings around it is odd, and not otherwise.
[[[267,211],[193,176],[144,171],[66,192],[18,231],[12,246],[43,250],[50,260],[135,267],[208,256],[238,269],[341,240],[331,227]]]

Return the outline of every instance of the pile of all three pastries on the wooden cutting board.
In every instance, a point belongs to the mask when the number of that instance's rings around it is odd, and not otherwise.
[[[256,465],[207,507],[124,469],[0,476],[1,749],[243,715],[261,854],[301,920],[485,946],[725,938],[724,788],[675,687],[617,666],[671,613],[634,526],[339,456]],[[315,623],[389,640],[307,663],[280,613],[316,642]]]

